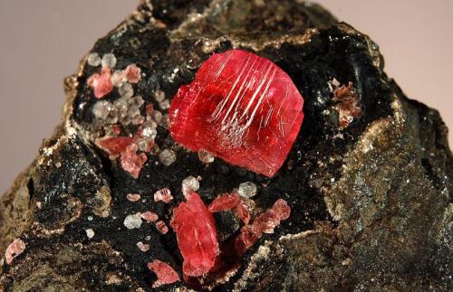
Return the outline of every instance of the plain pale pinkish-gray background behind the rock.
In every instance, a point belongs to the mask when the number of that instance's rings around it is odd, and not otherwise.
[[[318,2],[371,35],[390,77],[410,98],[438,108],[453,127],[453,0]],[[137,3],[0,0],[0,195],[58,124],[63,78]]]

